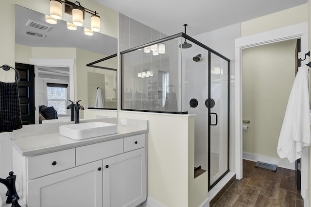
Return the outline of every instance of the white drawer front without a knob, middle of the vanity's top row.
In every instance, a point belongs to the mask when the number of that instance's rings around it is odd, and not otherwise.
[[[123,153],[123,139],[104,141],[76,148],[76,164],[83,165]]]

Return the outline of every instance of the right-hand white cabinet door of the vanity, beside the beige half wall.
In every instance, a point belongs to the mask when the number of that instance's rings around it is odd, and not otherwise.
[[[103,160],[104,207],[136,207],[146,200],[145,148]]]

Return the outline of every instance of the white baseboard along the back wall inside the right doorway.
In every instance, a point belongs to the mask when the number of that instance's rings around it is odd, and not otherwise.
[[[264,163],[277,165],[277,167],[280,168],[295,170],[295,163],[290,163],[290,161],[288,161],[287,159],[280,159],[276,157],[256,155],[251,153],[243,153],[243,159],[247,159],[254,162],[260,161]]]

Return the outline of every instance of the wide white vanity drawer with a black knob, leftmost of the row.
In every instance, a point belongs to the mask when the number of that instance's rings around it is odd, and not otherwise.
[[[75,167],[74,149],[27,157],[28,180]]]

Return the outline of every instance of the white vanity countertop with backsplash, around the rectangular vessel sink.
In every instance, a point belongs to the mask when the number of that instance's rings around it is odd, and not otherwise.
[[[20,129],[20,131],[18,131],[16,136],[15,134],[13,134],[13,146],[22,156],[40,155],[148,132],[148,121],[145,120],[127,119],[127,126],[121,125],[120,120],[118,120],[117,118],[87,120],[84,122],[91,121],[116,122],[118,124],[117,133],[95,138],[74,140],[59,135],[59,126],[65,124],[65,122],[39,125],[37,124],[30,127],[25,126],[23,129]],[[71,124],[71,122],[69,122],[69,124]],[[50,130],[48,130],[49,134],[44,134],[44,129],[47,126],[49,126],[50,128]],[[55,129],[55,133],[51,133],[51,131],[53,131],[51,128]],[[23,133],[23,131],[25,133]],[[30,131],[33,131],[33,133],[31,133]],[[25,134],[26,136],[23,137],[22,135]]]

